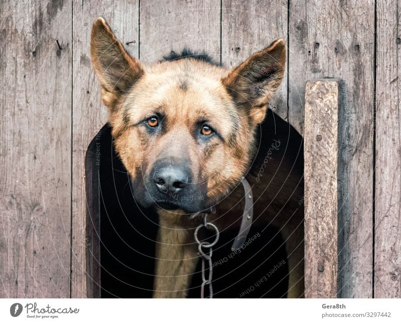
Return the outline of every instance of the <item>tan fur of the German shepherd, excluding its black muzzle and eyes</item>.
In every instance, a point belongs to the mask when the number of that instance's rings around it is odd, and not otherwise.
[[[109,108],[115,148],[131,178],[148,177],[157,158],[185,155],[190,160],[192,181],[207,183],[210,204],[222,201],[213,217],[219,229],[238,225],[242,206],[232,205],[242,192],[232,190],[249,169],[256,126],[263,121],[267,103],[283,78],[284,41],[274,42],[232,71],[190,58],[147,66],[130,57],[105,20],[98,18],[92,30],[91,56],[102,100]],[[168,131],[150,136],[137,124],[155,112],[166,115],[163,122]],[[199,116],[209,120],[224,140],[214,136],[207,144],[196,142],[191,131]],[[303,225],[297,224],[302,224],[303,214],[296,211],[299,194],[284,189],[276,197],[277,190],[263,192],[266,183],[258,184],[254,178],[248,181],[255,187],[256,200],[264,194],[255,204],[255,214],[269,207],[260,221],[278,225],[288,239],[289,296],[300,297]],[[154,297],[185,297],[197,261],[194,223],[180,210],[158,213]]]

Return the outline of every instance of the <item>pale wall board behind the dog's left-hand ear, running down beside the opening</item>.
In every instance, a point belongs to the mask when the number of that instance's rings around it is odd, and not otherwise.
[[[107,109],[100,100],[100,84],[90,60],[90,34],[93,21],[102,16],[134,57],[138,57],[138,0],[73,2],[73,156],[72,156],[72,286],[71,297],[87,296],[89,283],[85,249],[86,228],[85,152],[100,128],[107,122]],[[128,44],[127,44],[128,43]],[[88,272],[90,270],[88,269]],[[93,295],[88,295],[93,296]]]

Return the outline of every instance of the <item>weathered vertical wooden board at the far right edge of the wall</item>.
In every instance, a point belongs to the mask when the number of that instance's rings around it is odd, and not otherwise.
[[[379,298],[401,297],[400,15],[400,0],[377,2],[373,288]]]

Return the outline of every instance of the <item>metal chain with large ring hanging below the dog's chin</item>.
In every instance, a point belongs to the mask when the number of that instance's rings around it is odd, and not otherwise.
[[[209,243],[207,241],[199,241],[197,234],[201,228],[212,228],[216,231],[215,241]],[[213,287],[212,287],[212,277],[213,277],[213,264],[212,264],[212,247],[216,245],[219,241],[220,232],[219,229],[213,224],[208,222],[208,215],[205,214],[204,223],[199,224],[194,233],[195,241],[197,243],[197,249],[199,251],[199,255],[202,257],[202,285],[200,285],[200,298],[205,298],[205,286],[209,285],[209,298],[213,298]],[[209,249],[209,252],[204,252],[202,248]],[[208,268],[206,268],[206,264],[208,264]],[[208,279],[206,279],[206,272],[209,270]]]

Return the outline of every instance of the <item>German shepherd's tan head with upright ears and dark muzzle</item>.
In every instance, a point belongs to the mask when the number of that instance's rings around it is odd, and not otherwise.
[[[199,57],[146,66],[98,18],[91,57],[136,201],[196,213],[246,173],[256,127],[283,78],[285,44],[231,71]]]

